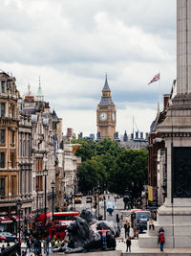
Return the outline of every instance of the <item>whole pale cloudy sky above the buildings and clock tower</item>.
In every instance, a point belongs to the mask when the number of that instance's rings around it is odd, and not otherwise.
[[[23,95],[38,78],[63,131],[96,133],[108,75],[117,130],[148,131],[176,79],[176,0],[1,0],[0,69]]]

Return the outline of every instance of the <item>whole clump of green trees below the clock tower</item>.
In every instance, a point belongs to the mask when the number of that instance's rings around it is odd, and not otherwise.
[[[147,180],[146,150],[127,151],[110,139],[97,143],[86,139],[72,142],[81,144],[75,153],[82,158],[77,172],[81,192],[93,191],[99,184],[102,190],[117,194],[124,194],[127,187],[133,188],[135,195],[140,193]]]

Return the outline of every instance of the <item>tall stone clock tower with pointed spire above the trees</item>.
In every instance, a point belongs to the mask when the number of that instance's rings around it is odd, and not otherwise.
[[[111,90],[108,85],[107,75],[102,89],[100,103],[96,108],[97,139],[114,139],[117,123],[117,110],[112,101]]]

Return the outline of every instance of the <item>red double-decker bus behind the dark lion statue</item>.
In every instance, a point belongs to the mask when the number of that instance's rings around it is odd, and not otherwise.
[[[74,221],[74,217],[78,216],[79,212],[55,212],[47,213],[46,231],[49,233],[50,239],[55,235],[60,240],[65,238],[67,226]],[[44,223],[45,214],[39,215],[37,219],[38,225]]]

